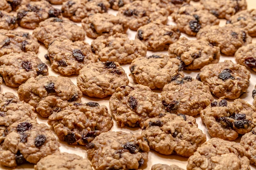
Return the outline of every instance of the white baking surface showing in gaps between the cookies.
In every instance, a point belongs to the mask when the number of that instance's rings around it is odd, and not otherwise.
[[[248,9],[256,8],[256,1],[255,0],[247,0],[247,3],[248,3]],[[61,8],[61,6],[55,6],[55,7],[56,8]],[[117,11],[113,11],[113,10],[109,9],[108,13],[116,15]],[[223,26],[225,23],[226,23],[226,20],[221,20],[220,25]],[[175,23],[172,22],[171,17],[169,17],[168,24],[169,25],[175,25]],[[77,25],[81,26],[81,23],[77,23]],[[24,29],[24,28],[21,28],[21,27],[18,27],[15,30],[16,31],[27,31],[30,34],[32,34],[32,31],[33,31],[33,30],[29,30],[29,29]],[[127,34],[128,34],[128,37],[130,39],[134,39],[136,31],[131,31],[130,29],[128,29]],[[196,39],[195,37],[188,37],[186,34],[183,34],[183,33],[182,33],[181,37],[187,37],[189,39]],[[92,40],[93,39],[90,39],[89,37],[86,37],[86,39],[85,39],[85,41],[88,42],[89,44],[92,42]],[[253,42],[256,43],[256,38],[253,38]],[[39,48],[39,52],[38,52],[38,57],[48,65],[49,75],[51,75],[51,76],[62,76],[61,74],[58,74],[57,72],[52,71],[52,69],[50,67],[50,62],[47,61],[44,58],[44,55],[46,53],[47,53],[47,48],[45,48],[44,45],[41,43],[40,48]],[[149,56],[153,53],[165,53],[165,54],[167,54],[167,51],[163,51],[163,52],[148,51],[147,56]],[[236,62],[234,57],[227,57],[227,56],[224,56],[223,54],[221,54],[220,62],[224,61],[225,59],[231,59],[233,62]],[[130,80],[129,85],[135,85],[133,79],[131,77],[129,77],[129,73],[130,73],[129,64],[122,65],[122,68],[124,68],[128,78]],[[191,77],[195,78],[199,71],[184,71],[184,72],[185,72],[186,76],[191,76]],[[250,104],[252,104],[253,103],[253,98],[251,96],[252,96],[252,91],[254,89],[254,85],[256,84],[256,73],[251,71],[251,70],[250,70],[250,72],[251,72],[250,86],[247,89],[247,93],[242,95],[240,98],[244,99],[247,102],[249,102]],[[69,76],[69,78],[72,80],[72,82],[74,84],[76,84],[76,77],[77,77],[76,75]],[[9,92],[12,92],[15,95],[17,95],[17,89],[18,88],[8,87],[3,83],[1,85],[0,93],[5,93],[5,92],[9,91]],[[153,91],[160,95],[160,92],[161,92],[160,90],[153,90]],[[110,97],[106,97],[104,99],[97,99],[97,98],[91,98],[91,97],[88,97],[88,96],[83,96],[82,97],[82,102],[90,102],[90,101],[98,102],[100,105],[106,105],[109,109],[109,103],[108,103],[109,98]],[[217,99],[217,98],[215,98],[215,99]],[[207,135],[207,140],[209,140],[211,137],[207,133],[207,128],[204,125],[202,125],[200,116],[198,115],[195,118],[196,118],[196,122],[198,123],[198,127],[201,130],[203,130],[203,132]],[[37,120],[38,120],[38,123],[47,124],[47,119],[41,117],[39,114],[38,114],[38,119]],[[52,130],[52,133],[55,134],[55,132],[52,128],[51,128],[51,130]],[[122,130],[126,133],[130,133],[130,132],[132,132],[132,133],[141,133],[140,128],[118,127],[116,125],[115,121],[114,121],[114,125],[113,125],[111,130],[113,130],[113,131]],[[58,139],[57,136],[56,136],[56,138]],[[236,139],[236,142],[240,142],[240,139],[241,139],[241,136],[239,136],[239,138]],[[79,156],[82,156],[82,157],[87,156],[84,146],[68,145],[66,142],[62,142],[62,141],[59,141],[59,142],[61,143],[61,147],[60,147],[61,152],[75,153],[75,154],[77,154]],[[181,167],[183,169],[186,169],[187,160],[188,160],[188,158],[185,158],[185,157],[182,157],[182,156],[175,156],[175,155],[165,156],[165,155],[161,155],[161,154],[155,152],[154,150],[150,150],[149,154],[148,154],[148,163],[147,163],[147,165],[144,165],[141,168],[144,169],[144,170],[151,170],[151,166],[154,165],[154,164],[169,164],[169,165],[176,164],[179,167]],[[34,169],[33,167],[34,167],[33,164],[23,164],[22,166],[16,167],[15,169],[32,170],[32,169]],[[256,166],[250,164],[250,167],[251,167],[251,170],[256,170]],[[13,169],[13,168],[7,168],[7,167],[0,166],[0,170],[11,170],[11,169]]]

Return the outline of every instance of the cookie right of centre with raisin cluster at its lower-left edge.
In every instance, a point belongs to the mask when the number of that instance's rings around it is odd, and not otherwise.
[[[200,114],[213,101],[207,85],[189,76],[182,78],[178,74],[164,86],[161,98],[168,112],[189,116]]]

